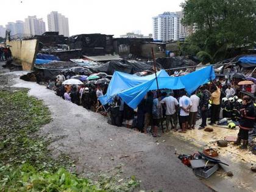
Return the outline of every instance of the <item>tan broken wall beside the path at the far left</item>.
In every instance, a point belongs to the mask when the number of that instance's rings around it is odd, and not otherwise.
[[[34,68],[35,58],[38,51],[38,40],[6,41],[10,46],[13,59],[22,65],[24,71]]]

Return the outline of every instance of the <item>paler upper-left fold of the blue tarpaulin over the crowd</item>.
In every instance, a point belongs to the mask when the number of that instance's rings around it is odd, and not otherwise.
[[[165,70],[161,70],[157,72],[157,77],[169,77],[169,75]],[[99,101],[101,101],[102,105],[105,105],[110,102],[113,96],[115,96],[117,93],[143,84],[144,82],[149,82],[152,79],[155,79],[155,74],[141,77],[115,71],[110,84],[108,85],[107,93],[104,96],[101,96]]]

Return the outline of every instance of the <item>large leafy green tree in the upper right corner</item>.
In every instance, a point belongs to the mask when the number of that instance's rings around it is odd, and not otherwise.
[[[196,30],[187,41],[212,55],[256,41],[256,0],[187,0],[182,5],[185,26]]]

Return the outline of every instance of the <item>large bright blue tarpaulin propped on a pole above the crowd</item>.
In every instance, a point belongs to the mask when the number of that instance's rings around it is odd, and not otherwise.
[[[169,77],[164,70],[161,70],[157,73],[157,79],[160,89],[169,88],[178,90],[185,88],[188,94],[191,94],[200,85],[215,79],[215,73],[212,66],[202,68],[181,77]],[[157,90],[155,74],[138,77],[126,73],[115,72],[108,85],[107,94],[100,97],[99,101],[101,101],[101,104],[105,105],[117,94],[127,105],[136,108],[146,93],[150,90]]]

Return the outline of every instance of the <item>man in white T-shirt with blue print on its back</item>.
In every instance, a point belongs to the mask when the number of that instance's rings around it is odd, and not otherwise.
[[[179,105],[180,105],[180,121],[182,123],[182,130],[180,130],[180,133],[186,133],[186,130],[188,128],[190,108],[192,106],[191,99],[188,98],[186,91],[183,91],[182,97],[179,100]]]

